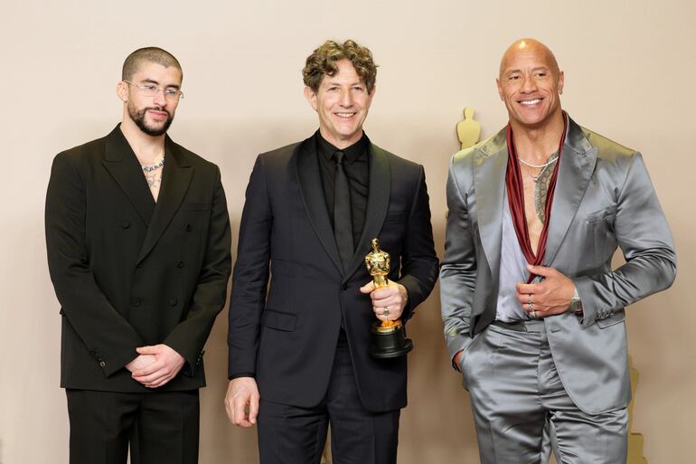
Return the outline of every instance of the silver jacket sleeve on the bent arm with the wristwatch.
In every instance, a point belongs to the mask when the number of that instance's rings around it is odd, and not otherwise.
[[[618,194],[614,232],[625,264],[616,270],[574,279],[582,299],[582,325],[586,327],[667,289],[676,275],[672,233],[640,153],[631,157]]]

